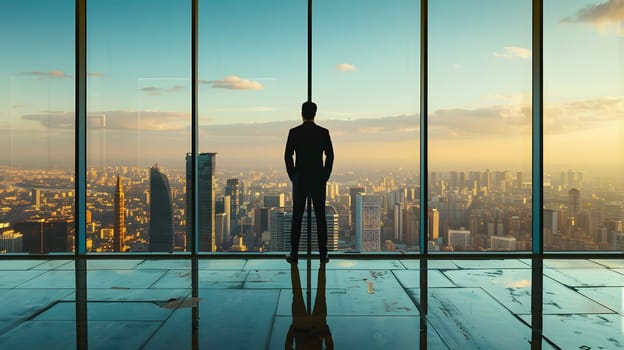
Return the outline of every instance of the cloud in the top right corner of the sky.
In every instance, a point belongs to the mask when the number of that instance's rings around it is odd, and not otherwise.
[[[578,10],[576,14],[562,18],[560,23],[590,23],[606,34],[614,27],[616,34],[624,36],[624,0],[607,0]]]

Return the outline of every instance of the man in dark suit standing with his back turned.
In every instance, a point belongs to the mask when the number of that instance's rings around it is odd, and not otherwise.
[[[329,130],[314,123],[316,104],[308,101],[301,105],[303,123],[290,129],[284,160],[286,171],[293,184],[293,218],[290,227],[290,254],[286,260],[296,263],[299,257],[299,237],[301,236],[301,220],[306,198],[312,197],[316,216],[316,231],[321,261],[328,262],[327,255],[327,220],[325,219],[325,186],[331,175],[334,164]],[[323,163],[323,153],[325,162]],[[293,161],[293,154],[296,160]]]

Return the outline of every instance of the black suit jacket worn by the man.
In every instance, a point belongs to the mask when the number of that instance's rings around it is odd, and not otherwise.
[[[323,164],[323,153],[325,163]],[[293,154],[296,161],[293,162]],[[290,129],[284,151],[286,171],[290,181],[302,183],[325,183],[334,165],[334,149],[329,130],[312,121]]]

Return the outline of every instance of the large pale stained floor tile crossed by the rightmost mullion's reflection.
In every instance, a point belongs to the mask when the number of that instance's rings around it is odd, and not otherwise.
[[[478,287],[515,314],[531,313],[531,270],[445,271],[455,284]],[[552,279],[544,278],[544,313],[608,313],[610,310]]]

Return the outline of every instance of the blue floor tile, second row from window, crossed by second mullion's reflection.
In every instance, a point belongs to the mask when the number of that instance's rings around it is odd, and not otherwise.
[[[247,271],[236,270],[199,270],[199,288],[243,288]],[[190,288],[192,284],[191,271],[170,270],[160,278],[153,288]]]

